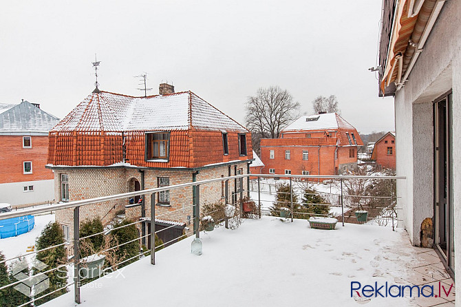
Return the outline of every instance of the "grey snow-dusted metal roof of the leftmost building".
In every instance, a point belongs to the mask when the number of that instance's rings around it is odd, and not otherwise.
[[[0,131],[49,131],[59,122],[26,100],[19,105],[0,105],[0,112]]]

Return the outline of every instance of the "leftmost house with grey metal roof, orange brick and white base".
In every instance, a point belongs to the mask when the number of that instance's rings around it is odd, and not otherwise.
[[[58,121],[36,103],[0,104],[0,202],[53,202],[54,175],[45,165],[48,131]]]

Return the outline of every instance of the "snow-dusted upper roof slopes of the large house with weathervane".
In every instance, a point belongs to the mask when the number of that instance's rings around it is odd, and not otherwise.
[[[94,92],[52,131],[161,131],[193,128],[248,132],[245,127],[190,91],[148,97]]]

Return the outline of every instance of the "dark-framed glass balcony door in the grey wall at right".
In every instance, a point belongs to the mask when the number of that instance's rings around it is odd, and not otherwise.
[[[434,239],[436,248],[454,271],[450,105],[451,94],[447,94],[434,104]]]

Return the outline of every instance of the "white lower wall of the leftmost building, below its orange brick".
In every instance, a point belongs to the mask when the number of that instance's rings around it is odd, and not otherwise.
[[[33,186],[32,191],[29,191],[30,186]],[[24,187],[28,187],[28,191],[24,191]],[[8,202],[13,206],[54,202],[54,180],[2,183],[0,202]]]

